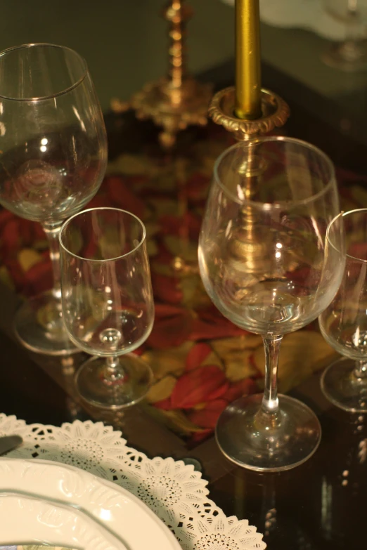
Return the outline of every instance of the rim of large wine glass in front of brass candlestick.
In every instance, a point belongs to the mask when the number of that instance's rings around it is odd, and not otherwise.
[[[228,188],[226,188],[226,186],[221,182],[221,179],[219,178],[219,173],[218,173],[219,164],[224,159],[224,157],[228,155],[228,152],[235,149],[239,149],[240,147],[243,147],[243,145],[246,145],[246,144],[253,145],[256,143],[266,143],[270,141],[273,141],[273,142],[284,141],[284,142],[296,143],[297,145],[302,145],[304,148],[307,148],[309,150],[316,152],[321,158],[323,158],[323,160],[326,162],[326,164],[330,169],[330,180],[328,181],[328,183],[326,183],[325,187],[321,191],[318,191],[315,195],[311,195],[311,197],[307,197],[307,199],[295,200],[295,201],[292,201],[291,203],[289,201],[259,202],[259,201],[253,201],[251,199],[241,200],[238,196],[234,195],[231,191],[229,191]],[[241,206],[243,206],[243,204],[252,204],[253,206],[259,209],[272,210],[272,209],[282,208],[285,204],[287,205],[288,208],[290,204],[295,207],[301,206],[302,204],[307,204],[308,202],[312,202],[318,199],[319,197],[322,197],[322,195],[324,195],[329,190],[329,188],[331,187],[331,185],[333,185],[333,182],[335,181],[335,168],[332,160],[330,159],[330,157],[328,157],[328,155],[326,155],[326,153],[324,153],[321,149],[316,147],[316,145],[312,145],[307,141],[304,141],[298,138],[288,138],[288,136],[264,136],[264,137],[259,136],[259,137],[251,138],[250,140],[247,140],[247,141],[240,141],[239,143],[235,143],[234,145],[231,145],[231,147],[228,147],[227,149],[225,149],[215,161],[214,181],[219,185],[221,190],[223,190],[224,193],[237,204],[240,204]]]

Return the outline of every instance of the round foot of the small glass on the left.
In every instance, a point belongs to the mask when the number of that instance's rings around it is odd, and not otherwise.
[[[123,409],[146,396],[153,381],[149,365],[133,353],[117,361],[113,376],[109,376],[105,357],[93,357],[80,367],[75,383],[84,401],[94,407]]]

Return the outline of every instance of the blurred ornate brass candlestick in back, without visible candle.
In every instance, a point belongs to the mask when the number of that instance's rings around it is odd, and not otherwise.
[[[192,16],[184,0],[170,0],[163,15],[169,22],[168,77],[149,82],[132,96],[129,104],[112,102],[115,112],[132,107],[140,119],[151,118],[162,126],[160,143],[170,148],[176,133],[191,124],[207,124],[212,85],[200,84],[186,70],[186,22]]]

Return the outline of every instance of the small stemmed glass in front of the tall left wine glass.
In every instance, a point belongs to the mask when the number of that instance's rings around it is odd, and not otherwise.
[[[134,214],[89,209],[60,232],[63,317],[75,346],[93,355],[76,375],[79,395],[97,407],[120,409],[140,401],[150,367],[129,352],[153,327],[146,230]]]

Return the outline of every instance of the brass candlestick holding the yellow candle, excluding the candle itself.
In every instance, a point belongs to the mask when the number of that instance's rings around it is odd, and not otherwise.
[[[217,124],[224,126],[238,140],[250,140],[274,128],[285,124],[289,117],[289,107],[282,98],[268,90],[262,90],[262,117],[255,120],[238,119],[235,112],[235,89],[226,88],[219,91],[212,99],[209,108],[210,117]],[[250,147],[251,145],[249,145]],[[247,200],[252,199],[253,180],[257,178],[262,166],[259,160],[249,155],[247,162],[239,169],[243,176],[243,192]],[[250,204],[241,209],[236,235],[231,245],[231,255],[236,269],[242,271],[254,282],[266,276],[269,259],[266,256],[266,239],[271,235],[263,235],[263,230],[257,223],[256,213]]]

